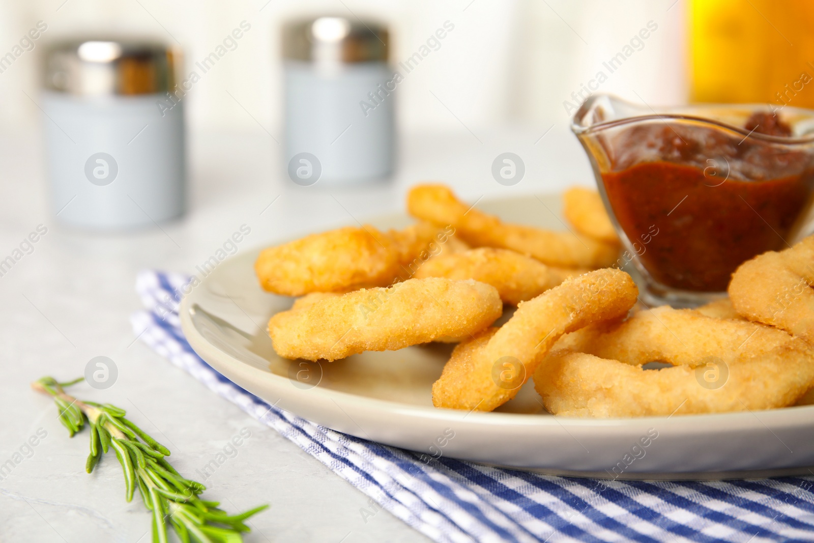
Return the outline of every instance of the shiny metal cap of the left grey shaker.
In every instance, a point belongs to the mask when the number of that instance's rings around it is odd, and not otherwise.
[[[153,94],[177,84],[181,52],[148,40],[71,40],[45,55],[43,85],[68,94]]]

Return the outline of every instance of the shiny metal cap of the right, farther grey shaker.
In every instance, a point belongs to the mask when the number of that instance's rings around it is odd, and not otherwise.
[[[314,63],[387,62],[390,35],[384,24],[341,16],[293,20],[282,27],[282,55]]]

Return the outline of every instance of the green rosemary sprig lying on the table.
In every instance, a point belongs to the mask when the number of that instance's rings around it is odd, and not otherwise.
[[[172,525],[183,543],[243,541],[241,532],[250,531],[243,521],[268,505],[239,515],[228,515],[217,508],[217,501],[200,499],[198,496],[206,487],[182,477],[164,458],[169,456],[169,450],[125,418],[125,409],[80,401],[63,390],[63,387],[82,380],[59,383],[53,377],[43,377],[31,383],[31,387],[54,396],[59,421],[68,428],[71,437],[81,431],[85,422],[90,425],[90,455],[85,462],[85,471],[94,471],[102,454],[113,449],[125,473],[127,501],[133,499],[138,488],[144,506],[152,511],[153,543],[167,542],[167,523]]]

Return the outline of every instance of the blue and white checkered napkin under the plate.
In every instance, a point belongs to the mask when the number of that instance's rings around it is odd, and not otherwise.
[[[133,315],[135,334],[367,494],[363,517],[381,506],[435,541],[814,541],[814,476],[573,479],[453,458],[426,462],[418,453],[310,423],[246,392],[195,354],[177,314],[177,292],[188,281],[139,274],[136,290],[147,310]]]

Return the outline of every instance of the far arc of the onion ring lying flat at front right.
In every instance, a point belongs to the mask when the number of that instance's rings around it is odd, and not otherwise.
[[[794,343],[786,332],[743,320],[707,317],[694,309],[664,305],[634,313],[624,322],[600,322],[565,335],[554,350],[593,354],[632,366],[661,361],[697,366],[707,357],[734,364]],[[545,361],[541,367],[545,370]]]

